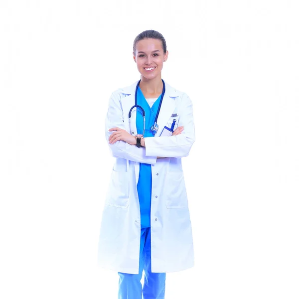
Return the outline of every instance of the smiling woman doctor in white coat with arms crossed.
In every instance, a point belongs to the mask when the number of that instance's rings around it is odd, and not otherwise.
[[[166,272],[194,265],[181,166],[195,141],[192,103],[162,80],[167,57],[159,32],[146,30],[135,38],[133,58],[141,80],[112,93],[105,121],[116,160],[98,265],[118,272],[119,299],[164,299]]]

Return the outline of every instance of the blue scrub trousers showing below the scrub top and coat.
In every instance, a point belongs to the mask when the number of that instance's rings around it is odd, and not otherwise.
[[[150,259],[150,227],[141,229],[139,274],[119,274],[118,299],[164,299],[166,273],[152,273]],[[145,282],[141,279],[145,271]]]

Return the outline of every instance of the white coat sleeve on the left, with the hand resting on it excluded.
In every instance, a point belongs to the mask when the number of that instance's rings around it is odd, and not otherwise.
[[[155,164],[157,156],[146,155],[146,149],[144,147],[138,148],[137,146],[132,146],[122,140],[119,140],[114,144],[109,143],[110,135],[115,132],[110,132],[108,131],[109,129],[118,127],[126,130],[119,94],[120,93],[117,90],[110,96],[108,112],[105,119],[106,140],[112,156],[140,163]]]

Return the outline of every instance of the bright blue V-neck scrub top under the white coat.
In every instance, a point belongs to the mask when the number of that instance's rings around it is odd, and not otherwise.
[[[151,108],[144,97],[140,87],[137,90],[137,104],[146,113],[146,126],[144,137],[154,137],[150,127],[154,123],[155,116],[159,107],[161,95],[156,99]],[[136,128],[138,134],[143,134],[144,120],[141,109],[137,108]],[[141,228],[150,227],[150,202],[151,202],[151,164],[140,163],[139,180],[137,191],[140,204]]]

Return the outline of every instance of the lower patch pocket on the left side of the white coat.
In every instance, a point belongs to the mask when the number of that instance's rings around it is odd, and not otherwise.
[[[129,206],[129,172],[112,170],[106,204],[119,208]]]

